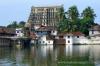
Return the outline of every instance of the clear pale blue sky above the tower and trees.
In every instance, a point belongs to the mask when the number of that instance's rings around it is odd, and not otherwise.
[[[0,0],[0,26],[6,26],[13,21],[27,22],[32,6],[64,5],[65,11],[76,5],[81,13],[91,6],[95,13],[95,22],[100,24],[100,0]]]

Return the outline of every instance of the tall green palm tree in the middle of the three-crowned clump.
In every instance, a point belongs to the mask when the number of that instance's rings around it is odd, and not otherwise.
[[[66,12],[68,20],[71,22],[70,26],[70,31],[78,31],[79,29],[79,12],[76,6],[71,6],[68,11]]]

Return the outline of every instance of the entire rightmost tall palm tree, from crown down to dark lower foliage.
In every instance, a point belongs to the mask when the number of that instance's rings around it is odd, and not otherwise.
[[[81,13],[82,19],[81,19],[81,27],[80,31],[84,34],[89,34],[89,28],[93,25],[95,25],[94,20],[96,17],[96,14],[94,13],[94,10],[91,7],[87,7],[83,10]]]

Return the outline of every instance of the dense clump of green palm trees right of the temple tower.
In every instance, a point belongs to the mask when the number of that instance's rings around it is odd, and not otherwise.
[[[96,14],[91,7],[87,7],[80,14],[76,6],[71,6],[68,11],[64,12],[63,7],[59,10],[61,20],[58,24],[59,32],[75,32],[80,31],[88,35],[89,28],[95,25],[94,20]]]

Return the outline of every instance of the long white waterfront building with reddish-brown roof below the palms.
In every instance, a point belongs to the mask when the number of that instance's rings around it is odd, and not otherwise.
[[[55,39],[59,39],[59,41],[64,39],[65,40],[64,44],[67,44],[67,45],[72,45],[72,44],[88,44],[88,43],[90,43],[89,39],[87,37],[85,37],[85,35],[82,34],[81,32],[58,34],[55,37]]]

